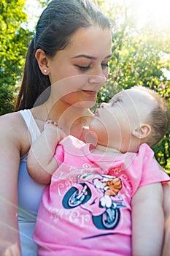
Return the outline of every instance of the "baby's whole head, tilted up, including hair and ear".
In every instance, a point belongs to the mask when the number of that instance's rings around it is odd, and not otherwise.
[[[168,105],[155,91],[142,86],[115,94],[101,103],[90,123],[98,143],[121,152],[138,151],[139,145],[154,146],[169,129]]]

